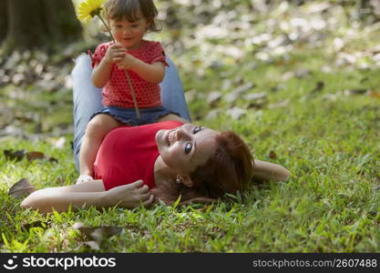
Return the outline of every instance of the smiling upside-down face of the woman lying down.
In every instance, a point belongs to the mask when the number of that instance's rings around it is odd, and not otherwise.
[[[216,149],[218,131],[204,126],[184,124],[171,130],[159,130],[156,142],[159,155],[180,175],[189,175],[207,162]]]

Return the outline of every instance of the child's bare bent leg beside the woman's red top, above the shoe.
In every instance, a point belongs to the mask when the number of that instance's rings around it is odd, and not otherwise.
[[[98,149],[109,131],[120,126],[112,116],[99,114],[94,116],[87,125],[86,134],[82,141],[79,153],[80,175],[93,176],[93,165]]]

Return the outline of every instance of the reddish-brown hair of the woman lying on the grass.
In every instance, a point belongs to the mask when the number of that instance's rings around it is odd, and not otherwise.
[[[252,178],[252,155],[250,149],[236,133],[221,132],[216,137],[216,151],[206,164],[197,167],[190,178],[193,187],[172,181],[162,182],[152,189],[156,201],[174,203],[178,197],[181,204],[190,202],[210,203],[224,194],[243,191]]]

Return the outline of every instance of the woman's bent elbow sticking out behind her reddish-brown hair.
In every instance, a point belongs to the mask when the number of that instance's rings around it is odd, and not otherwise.
[[[265,182],[272,180],[280,182],[286,180],[290,175],[290,171],[278,164],[254,159],[253,181]]]

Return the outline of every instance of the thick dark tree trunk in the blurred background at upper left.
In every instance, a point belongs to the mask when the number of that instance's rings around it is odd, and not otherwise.
[[[82,32],[71,0],[8,0],[7,21],[8,49],[49,48]]]

